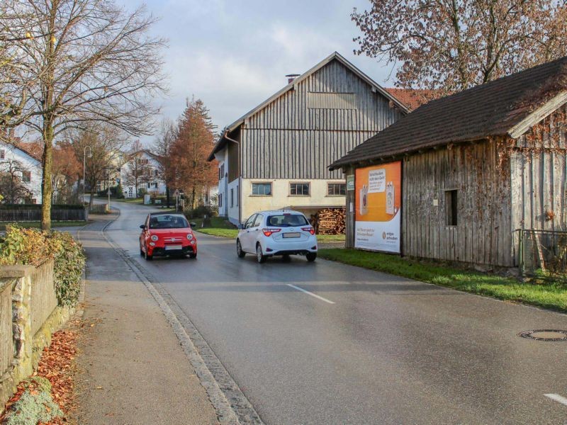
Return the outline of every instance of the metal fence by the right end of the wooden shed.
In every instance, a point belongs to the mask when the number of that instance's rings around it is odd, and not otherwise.
[[[522,276],[566,278],[567,232],[520,229]]]

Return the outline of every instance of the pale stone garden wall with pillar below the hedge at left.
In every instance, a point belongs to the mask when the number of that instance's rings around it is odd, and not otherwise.
[[[57,306],[52,261],[39,267],[0,266],[0,412],[73,312]]]

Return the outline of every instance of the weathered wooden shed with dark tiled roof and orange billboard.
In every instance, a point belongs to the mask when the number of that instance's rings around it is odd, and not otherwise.
[[[431,101],[378,132],[330,166],[354,180],[347,246],[514,267],[535,237],[543,268],[557,247],[542,240],[557,241],[567,223],[566,103],[563,57]]]

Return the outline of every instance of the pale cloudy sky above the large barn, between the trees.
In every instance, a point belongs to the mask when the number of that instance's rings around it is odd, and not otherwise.
[[[126,8],[142,3],[125,0]],[[186,99],[200,98],[221,130],[302,74],[339,52],[383,86],[391,65],[354,55],[359,35],[354,7],[369,0],[147,0],[159,18],[153,35],[168,40],[164,72],[169,94],[155,99],[165,117],[176,119]],[[146,145],[154,138],[142,139]]]

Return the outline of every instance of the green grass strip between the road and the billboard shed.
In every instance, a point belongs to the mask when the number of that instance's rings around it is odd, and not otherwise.
[[[567,284],[521,282],[492,273],[480,273],[441,263],[403,259],[399,256],[357,249],[320,249],[321,258],[369,268],[396,276],[434,283],[478,295],[567,312]]]

